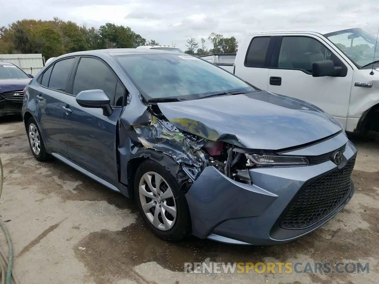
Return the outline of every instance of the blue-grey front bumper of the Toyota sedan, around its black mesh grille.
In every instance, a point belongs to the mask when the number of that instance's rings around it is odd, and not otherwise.
[[[229,179],[208,166],[186,193],[193,235],[226,243],[269,245],[296,239],[324,225],[346,206],[354,194],[354,184],[349,176],[347,195],[323,218],[308,227],[296,229],[282,228],[280,222],[310,181],[337,169],[344,171],[349,161],[350,165],[354,163],[357,149],[346,136],[338,135],[315,145],[313,150],[338,145],[335,150],[343,145],[338,144],[343,137],[346,148],[340,165],[326,161],[298,167],[257,167],[249,170],[252,185]],[[301,150],[297,151],[300,154]],[[305,151],[310,149],[304,148]]]

